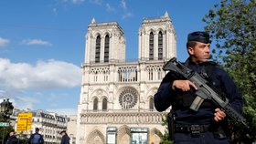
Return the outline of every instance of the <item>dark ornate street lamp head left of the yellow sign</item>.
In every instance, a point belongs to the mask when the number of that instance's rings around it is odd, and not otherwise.
[[[7,99],[4,99],[2,103],[0,103],[0,110],[1,110],[0,112],[2,113],[6,121],[13,114],[14,106],[7,98]]]

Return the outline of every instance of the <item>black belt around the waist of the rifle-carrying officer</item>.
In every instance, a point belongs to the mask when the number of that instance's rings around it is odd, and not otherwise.
[[[206,132],[209,130],[208,128],[209,128],[208,125],[181,125],[181,124],[175,125],[175,131],[182,132],[182,133]]]

